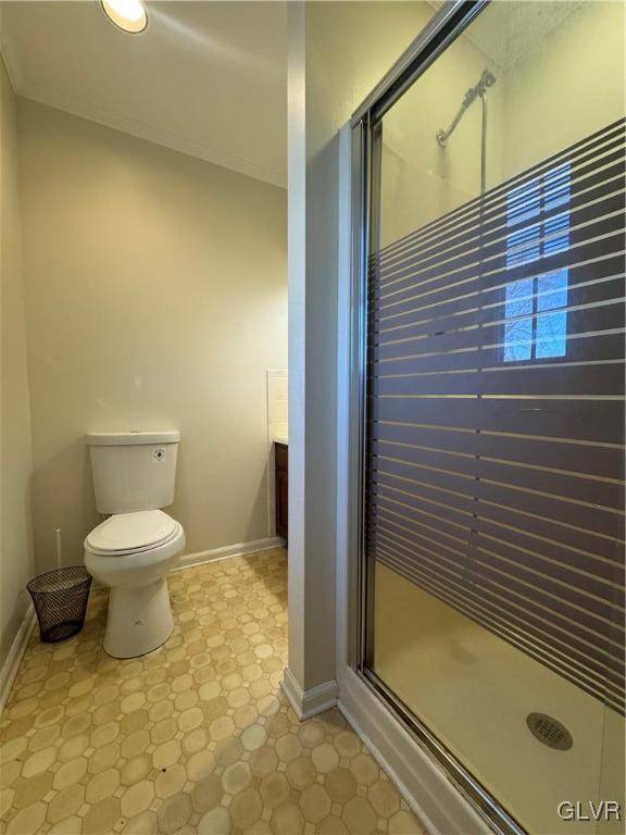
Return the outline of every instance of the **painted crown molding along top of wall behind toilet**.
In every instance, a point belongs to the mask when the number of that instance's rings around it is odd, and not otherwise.
[[[5,52],[3,50],[3,52]],[[7,55],[4,54],[4,62],[9,65]],[[268,183],[272,186],[278,186],[279,188],[287,188],[287,176],[278,171],[266,169],[262,165],[256,165],[249,160],[245,160],[240,157],[234,157],[222,151],[217,151],[214,148],[189,139],[178,134],[173,134],[167,130],[163,130],[153,125],[145,122],[125,116],[115,111],[105,110],[89,104],[78,99],[73,99],[64,94],[53,90],[43,85],[37,84],[29,78],[16,78],[15,73],[11,73],[8,67],[9,77],[13,84],[13,89],[17,96],[30,101],[36,101],[39,104],[47,104],[50,108],[62,110],[65,113],[71,113],[74,116],[89,120],[90,122],[97,122],[105,127],[120,130],[124,134],[129,134],[137,139],[145,139],[148,142],[170,148],[173,151],[185,153],[188,157],[196,157],[204,162],[210,162],[213,165],[220,165],[223,169],[235,171],[238,174],[243,174],[247,177],[253,179],[260,179],[263,183]],[[17,82],[17,83],[15,83]]]

